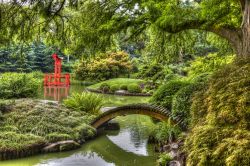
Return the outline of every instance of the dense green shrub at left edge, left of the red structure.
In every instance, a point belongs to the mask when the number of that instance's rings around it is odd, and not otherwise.
[[[35,97],[41,86],[33,74],[4,73],[0,75],[0,98]]]

